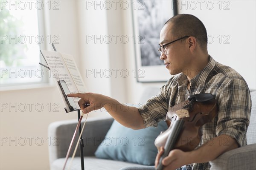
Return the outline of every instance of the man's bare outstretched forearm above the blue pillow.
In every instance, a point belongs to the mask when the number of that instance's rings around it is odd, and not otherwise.
[[[145,128],[143,118],[136,107],[122,105],[117,100],[110,97],[107,97],[107,102],[105,102],[103,107],[122,125],[132,129]]]

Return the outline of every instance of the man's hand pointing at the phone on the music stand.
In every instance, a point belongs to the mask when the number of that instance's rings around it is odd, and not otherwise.
[[[104,105],[108,101],[108,96],[104,96],[102,94],[95,94],[95,93],[84,93],[84,94],[76,93],[76,94],[68,94],[67,96],[81,98],[78,104],[84,114],[104,107]],[[90,106],[85,107],[85,104],[90,104]]]

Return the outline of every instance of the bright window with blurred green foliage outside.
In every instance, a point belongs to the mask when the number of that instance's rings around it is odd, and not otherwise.
[[[45,38],[38,31],[35,2],[0,0],[1,87],[46,82],[38,64]]]

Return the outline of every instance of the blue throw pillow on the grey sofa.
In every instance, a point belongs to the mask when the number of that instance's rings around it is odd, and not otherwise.
[[[154,165],[157,156],[154,140],[161,131],[166,129],[167,125],[164,121],[159,122],[157,127],[133,130],[114,120],[105,139],[97,148],[95,156],[102,159]]]

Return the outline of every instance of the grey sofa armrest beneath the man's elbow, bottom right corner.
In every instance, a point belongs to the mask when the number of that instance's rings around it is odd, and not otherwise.
[[[249,144],[223,153],[210,161],[211,170],[255,170],[256,144]]]

